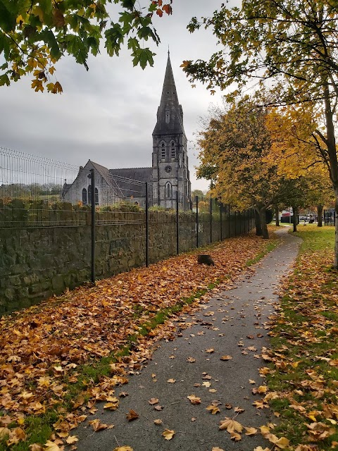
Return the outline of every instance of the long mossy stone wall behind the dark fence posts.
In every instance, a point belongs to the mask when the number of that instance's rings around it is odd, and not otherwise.
[[[99,216],[98,216],[99,218]],[[176,253],[175,214],[149,213],[149,262]],[[180,213],[180,252],[196,247],[196,216]],[[236,231],[235,231],[236,224]],[[246,233],[254,221],[224,216],[223,239]],[[213,218],[212,240],[220,240],[220,218]],[[199,217],[199,246],[209,244],[210,218]],[[75,288],[90,278],[90,226],[0,228],[0,314],[9,313],[66,288]],[[144,213],[109,213],[96,226],[96,277],[143,266],[145,261]]]

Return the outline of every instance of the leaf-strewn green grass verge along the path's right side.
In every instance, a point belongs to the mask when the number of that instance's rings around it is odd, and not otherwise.
[[[264,373],[274,432],[288,449],[338,450],[338,272],[332,270],[334,228],[299,226],[303,242],[272,319]]]

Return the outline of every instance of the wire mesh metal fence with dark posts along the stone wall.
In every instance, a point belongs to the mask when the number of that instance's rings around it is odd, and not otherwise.
[[[90,278],[94,282],[97,228],[139,224],[139,240],[145,242],[144,263],[148,266],[149,228],[165,221],[161,208],[154,205],[151,182],[146,181],[151,180],[149,169],[134,170],[140,177],[137,180],[126,176],[130,170],[108,170],[91,161],[78,168],[0,147],[0,230],[90,226]],[[196,247],[248,233],[251,228],[253,211],[232,211],[230,205],[215,199],[196,197],[192,213],[184,216],[180,213],[182,199],[175,194],[172,214],[177,254],[184,249],[180,237],[184,221],[194,223]]]

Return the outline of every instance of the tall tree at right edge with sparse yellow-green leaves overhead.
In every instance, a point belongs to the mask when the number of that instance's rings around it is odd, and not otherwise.
[[[239,91],[253,79],[269,82],[275,96],[270,104],[319,104],[324,129],[313,130],[327,166],[338,214],[338,159],[334,115],[338,100],[338,9],[332,0],[243,0],[242,8],[220,6],[189,30],[212,27],[225,47],[210,61],[184,61],[191,80]],[[334,267],[338,268],[338,221]]]

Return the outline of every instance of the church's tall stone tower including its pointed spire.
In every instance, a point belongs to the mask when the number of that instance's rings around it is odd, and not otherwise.
[[[168,51],[157,122],[153,132],[153,202],[165,209],[189,210],[191,185],[189,179],[187,137],[183,128],[183,111],[178,102],[173,69]]]

